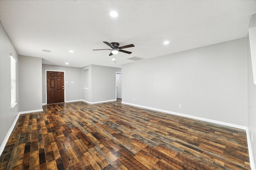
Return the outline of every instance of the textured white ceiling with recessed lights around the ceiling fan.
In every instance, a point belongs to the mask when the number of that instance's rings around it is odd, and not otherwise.
[[[135,62],[125,59],[131,56],[148,59],[246,37],[255,13],[255,0],[0,0],[0,20],[19,55],[74,67],[121,67]],[[114,63],[110,51],[92,51],[108,49],[102,41],[135,47],[114,55]]]

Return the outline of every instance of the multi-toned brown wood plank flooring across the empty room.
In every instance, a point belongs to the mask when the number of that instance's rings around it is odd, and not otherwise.
[[[248,170],[246,131],[121,104],[22,114],[0,169]]]

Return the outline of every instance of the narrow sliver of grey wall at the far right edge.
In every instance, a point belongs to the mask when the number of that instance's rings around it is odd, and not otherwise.
[[[252,23],[252,21],[251,21]],[[254,27],[256,26],[256,14],[254,14]],[[252,75],[252,58],[250,53],[250,41],[248,37],[248,130],[253,151],[254,164],[256,163],[256,85]],[[254,46],[254,50],[255,50]],[[253,135],[252,135],[253,134]],[[256,169],[256,167],[254,167]]]

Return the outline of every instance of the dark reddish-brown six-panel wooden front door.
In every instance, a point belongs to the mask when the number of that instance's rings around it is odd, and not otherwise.
[[[64,72],[46,71],[47,104],[64,102]]]

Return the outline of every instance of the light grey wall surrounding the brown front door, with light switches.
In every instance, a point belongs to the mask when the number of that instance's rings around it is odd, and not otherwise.
[[[65,71],[66,102],[82,99],[82,70],[78,67],[56,66],[42,64],[42,102],[45,100],[45,70]],[[68,83],[66,83],[68,82]],[[71,83],[74,82],[74,83]],[[41,103],[42,105],[42,103]]]

